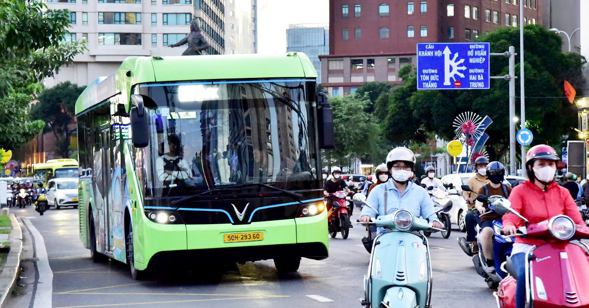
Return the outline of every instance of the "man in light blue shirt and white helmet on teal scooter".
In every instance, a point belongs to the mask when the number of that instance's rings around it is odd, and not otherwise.
[[[442,228],[438,217],[434,215],[434,203],[429,198],[428,192],[410,180],[415,171],[413,151],[406,147],[393,148],[386,155],[386,166],[390,170],[392,178],[382,185],[376,186],[366,200],[366,203],[375,207],[378,213],[365,206],[362,208],[359,220],[362,223],[368,223],[370,218],[376,218],[377,215],[391,214],[396,210],[407,210],[416,217],[433,221],[432,227]]]

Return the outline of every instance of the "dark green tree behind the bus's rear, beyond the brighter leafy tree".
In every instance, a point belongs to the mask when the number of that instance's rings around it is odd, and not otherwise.
[[[85,87],[78,87],[70,81],[62,82],[53,88],[45,89],[39,95],[39,102],[31,110],[35,120],[45,121],[44,132],[55,135],[55,153],[70,158],[70,136],[68,125],[74,120],[75,101]]]

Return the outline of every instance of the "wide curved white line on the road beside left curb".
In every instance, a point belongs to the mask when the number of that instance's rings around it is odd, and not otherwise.
[[[22,221],[27,225],[31,232],[33,239],[35,239],[35,254],[37,255],[37,270],[39,271],[39,280],[37,281],[37,290],[35,292],[35,300],[33,308],[51,308],[52,307],[52,293],[53,293],[53,271],[49,266],[49,259],[47,258],[47,249],[45,248],[45,241],[43,236],[28,218],[22,218]]]

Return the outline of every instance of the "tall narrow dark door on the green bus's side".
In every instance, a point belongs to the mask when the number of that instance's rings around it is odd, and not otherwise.
[[[102,217],[104,217],[104,247],[105,251],[112,252],[112,132],[110,124],[101,127],[102,140]]]

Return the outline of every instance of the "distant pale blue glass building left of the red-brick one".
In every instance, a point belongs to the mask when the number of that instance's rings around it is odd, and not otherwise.
[[[317,71],[317,80],[321,80],[319,55],[329,54],[329,25],[289,25],[289,28],[286,29],[286,51],[304,52],[309,56]]]

